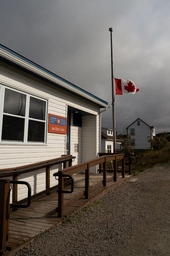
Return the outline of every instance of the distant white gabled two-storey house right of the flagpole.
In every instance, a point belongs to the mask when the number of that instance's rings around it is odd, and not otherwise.
[[[153,138],[156,135],[155,127],[150,126],[143,122],[140,118],[137,118],[133,123],[131,123],[127,128],[127,134],[132,136],[131,145],[135,145],[137,150],[149,150],[150,143],[147,137]]]

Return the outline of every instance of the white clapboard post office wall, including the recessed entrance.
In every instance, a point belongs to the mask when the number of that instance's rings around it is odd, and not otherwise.
[[[50,113],[66,117],[67,105],[92,114],[93,116],[83,117],[82,128],[71,126],[71,154],[77,157],[73,164],[96,157],[96,154],[99,151],[99,128],[97,129],[97,127],[99,126],[100,109],[98,106],[51,86],[31,75],[22,73],[14,68],[9,68],[7,65],[0,66],[0,83],[47,99],[47,114]],[[78,154],[74,153],[74,143],[79,143],[80,145]],[[15,166],[53,159],[64,154],[66,154],[66,135],[63,134],[47,133],[45,144],[23,144],[18,142],[7,144],[1,142],[0,169],[13,168]],[[52,168],[51,185],[57,184],[57,180],[53,177],[53,173],[61,168],[61,164],[54,169]],[[33,185],[33,195],[45,188],[44,177],[44,170],[40,170],[34,172],[32,175],[30,173],[22,175],[18,177],[18,180],[29,181]],[[22,185],[18,185],[18,199],[27,197],[27,189],[22,187]]]

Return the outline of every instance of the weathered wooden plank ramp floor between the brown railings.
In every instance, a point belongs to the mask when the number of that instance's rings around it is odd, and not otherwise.
[[[107,174],[107,177],[113,176]],[[119,175],[118,175],[119,176]],[[132,175],[125,175],[125,178],[117,177],[117,181],[109,181],[107,186],[103,185],[95,188],[90,192],[89,199],[82,197],[69,204],[64,208],[64,218],[77,212],[79,209],[92,203],[94,200],[101,198],[108,191],[128,181]],[[99,183],[103,180],[103,174],[90,175],[90,186]],[[74,175],[74,192],[72,194],[64,194],[64,203],[72,197],[79,195],[84,191],[85,178],[84,174]],[[64,188],[69,190],[70,185],[64,185]],[[17,211],[10,211],[10,240],[7,242],[7,251],[4,255],[13,255],[22,247],[26,246],[35,237],[59,225],[64,218],[58,218],[56,207],[58,206],[57,191],[52,191],[48,196],[41,196],[32,201],[28,208],[18,208]]]

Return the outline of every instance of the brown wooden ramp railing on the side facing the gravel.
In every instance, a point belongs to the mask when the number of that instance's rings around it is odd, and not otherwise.
[[[75,198],[70,199],[66,203],[64,203],[64,194],[58,193],[58,207],[56,208],[56,212],[58,212],[58,217],[63,217],[63,210],[64,208],[71,204],[72,202],[78,200],[79,198],[85,196],[86,199],[89,198],[89,193],[96,187],[103,184],[103,186],[107,185],[107,182],[110,180],[117,181],[117,160],[122,160],[122,178],[125,178],[125,155],[124,154],[116,154],[116,155],[107,155],[107,156],[101,156],[95,159],[92,159],[88,162],[84,162],[81,164],[77,164],[68,168],[64,168],[62,170],[59,170],[59,174],[65,174],[65,175],[74,175],[77,173],[82,172],[85,170],[85,190],[80,193]],[[113,161],[114,171],[113,171],[113,177],[107,178],[107,161]],[[99,182],[98,184],[90,187],[89,183],[89,170],[91,167],[102,164],[103,163],[103,181]],[[59,176],[58,178],[58,187],[59,191],[64,190],[64,177]]]

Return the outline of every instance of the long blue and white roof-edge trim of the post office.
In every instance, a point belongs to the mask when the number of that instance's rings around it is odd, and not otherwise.
[[[85,94],[91,96],[92,98],[94,98],[94,99],[96,99],[96,100],[99,100],[99,101],[101,101],[102,103],[108,105],[108,102],[106,102],[106,101],[104,101],[104,100],[102,100],[102,99],[96,97],[95,95],[93,95],[93,94],[91,94],[91,93],[89,93],[89,92],[87,92],[87,91],[81,89],[80,87],[76,86],[75,84],[73,84],[73,83],[71,83],[71,82],[69,82],[69,81],[63,79],[62,77],[60,77],[60,76],[58,76],[58,75],[55,75],[55,74],[52,73],[51,71],[48,71],[48,70],[44,69],[43,67],[37,65],[35,62],[33,62],[33,61],[31,61],[31,60],[29,60],[29,59],[27,59],[27,58],[25,58],[25,57],[19,55],[18,53],[16,53],[16,52],[10,50],[9,48],[7,48],[7,47],[5,47],[5,46],[3,46],[3,45],[1,45],[1,44],[0,44],[0,46],[1,46],[1,48],[2,48],[3,50],[5,50],[6,52],[12,54],[13,56],[15,56],[15,57],[17,57],[17,58],[19,58],[19,59],[21,59],[21,60],[23,60],[23,61],[26,61],[27,63],[29,63],[30,65],[32,65],[32,66],[34,66],[34,67],[36,67],[36,68],[38,68],[38,69],[40,69],[41,71],[43,71],[43,72],[45,72],[45,73],[47,73],[47,74],[49,74],[49,75],[54,76],[55,78],[57,78],[57,79],[59,79],[59,80],[65,82],[65,83],[69,84],[69,86],[71,86],[71,87],[73,87],[73,88],[76,88],[76,89],[78,89],[79,91],[81,91],[81,92],[83,92],[83,93],[85,93]],[[4,58],[2,58],[2,59],[4,59]],[[12,65],[12,63],[13,63],[12,61],[8,61],[8,62],[10,62],[10,65]],[[13,65],[13,66],[15,66],[15,67],[17,66],[17,68],[20,68],[19,65]],[[29,72],[29,71],[25,69],[25,72]],[[29,72],[29,73],[33,73],[33,72]],[[35,75],[35,74],[34,74],[34,75]],[[39,77],[40,77],[40,76],[39,76]],[[41,78],[41,79],[42,79],[42,78]],[[58,86],[58,85],[57,85],[57,86]],[[61,88],[61,86],[60,86],[60,88]],[[66,89],[64,88],[64,90],[66,90]],[[69,90],[67,90],[67,91],[69,91]],[[72,93],[72,92],[71,92],[71,93]]]

